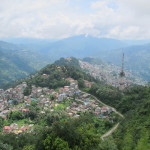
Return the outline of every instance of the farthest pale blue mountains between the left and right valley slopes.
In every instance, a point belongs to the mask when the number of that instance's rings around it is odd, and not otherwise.
[[[62,40],[50,39],[32,39],[32,38],[7,38],[6,41],[19,45],[19,47],[28,50],[30,53],[35,53],[39,62],[33,63],[35,58],[32,59],[31,65],[35,68],[42,68],[44,65],[54,62],[60,57],[85,57],[95,56],[99,53],[105,53],[105,50],[111,50],[127,46],[125,42],[107,39],[96,38],[91,36],[74,36]],[[25,54],[26,58],[27,55]]]

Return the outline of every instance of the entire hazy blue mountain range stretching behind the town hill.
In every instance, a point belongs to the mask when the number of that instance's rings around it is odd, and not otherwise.
[[[7,38],[0,42],[0,86],[25,77],[61,57],[96,57],[121,65],[150,81],[149,41],[123,41],[91,36],[74,36],[62,40]],[[8,43],[8,42],[12,42]],[[139,43],[137,46],[131,46]]]

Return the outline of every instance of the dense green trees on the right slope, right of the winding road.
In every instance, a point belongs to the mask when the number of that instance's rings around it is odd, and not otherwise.
[[[119,91],[110,86],[93,85],[90,93],[125,115],[114,135],[119,150],[150,148],[150,88],[135,86]]]

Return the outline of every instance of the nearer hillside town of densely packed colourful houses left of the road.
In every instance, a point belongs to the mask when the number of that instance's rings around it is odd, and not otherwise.
[[[82,92],[78,88],[78,82],[72,78],[67,78],[70,86],[64,86],[57,90],[41,88],[32,85],[32,91],[29,96],[24,95],[24,90],[28,87],[26,82],[4,91],[0,89],[0,117],[8,119],[8,115],[13,111],[29,113],[29,106],[36,102],[40,108],[40,113],[46,111],[63,111],[68,117],[79,117],[82,113],[91,112],[99,118],[106,118],[113,121],[110,114],[113,109],[100,104],[93,96]],[[91,87],[92,82],[86,81],[85,86]],[[32,132],[33,124],[19,125],[14,122],[9,126],[3,127],[3,132],[20,134],[22,132]]]

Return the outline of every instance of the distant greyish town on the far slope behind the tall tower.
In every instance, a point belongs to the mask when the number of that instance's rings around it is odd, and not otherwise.
[[[120,67],[113,64],[90,64],[81,60],[79,63],[80,67],[94,78],[104,81],[106,84],[110,84],[114,87],[120,86]],[[130,86],[132,84],[145,85],[145,82],[141,78],[134,76],[130,71],[125,72],[124,83],[125,86]]]

